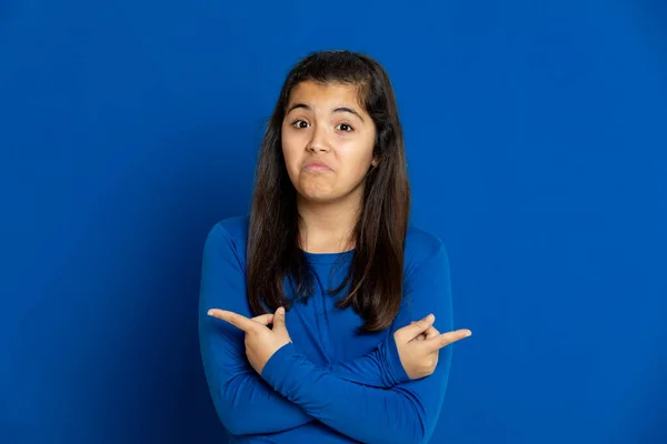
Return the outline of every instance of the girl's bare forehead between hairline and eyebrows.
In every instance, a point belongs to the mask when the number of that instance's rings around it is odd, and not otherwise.
[[[362,110],[358,90],[356,85],[346,83],[305,81],[292,88],[288,105],[295,103],[306,103],[313,107],[348,104]]]

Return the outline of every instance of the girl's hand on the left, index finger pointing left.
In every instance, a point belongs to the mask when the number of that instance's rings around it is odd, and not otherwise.
[[[246,356],[260,375],[273,353],[291,342],[285,325],[283,307],[276,310],[275,314],[262,314],[252,319],[218,309],[209,310],[208,315],[227,321],[246,333]],[[273,324],[273,327],[269,329],[269,324]]]

